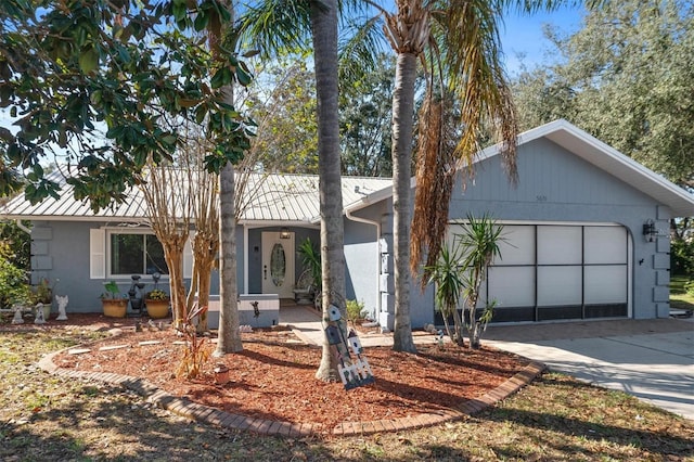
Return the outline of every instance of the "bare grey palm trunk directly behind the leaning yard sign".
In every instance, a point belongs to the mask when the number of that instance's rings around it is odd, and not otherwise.
[[[311,2],[311,30],[318,97],[318,170],[321,209],[321,297],[323,318],[330,305],[346,319],[343,197],[340,187],[339,124],[337,113],[337,1]],[[316,377],[337,378],[336,360],[327,338]]]

